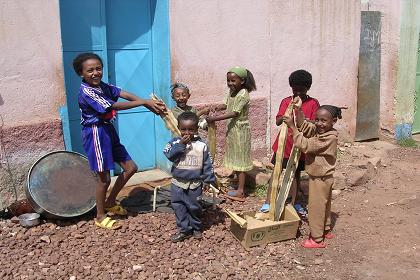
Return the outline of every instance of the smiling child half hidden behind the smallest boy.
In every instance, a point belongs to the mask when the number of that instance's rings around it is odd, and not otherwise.
[[[175,83],[171,87],[172,99],[175,101],[176,105],[171,109],[174,117],[178,119],[178,116],[183,112],[193,112],[196,113],[198,117],[203,114],[208,113],[208,109],[203,109],[197,111],[192,106],[187,105],[188,99],[190,99],[190,89],[183,83]]]

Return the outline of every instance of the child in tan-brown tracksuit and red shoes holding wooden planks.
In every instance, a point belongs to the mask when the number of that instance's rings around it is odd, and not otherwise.
[[[323,105],[316,111],[315,124],[304,119],[302,111],[284,122],[293,133],[293,143],[306,154],[305,170],[309,175],[308,222],[311,234],[302,243],[305,248],[324,248],[324,238],[331,239],[331,192],[337,159],[338,133],[333,125],[341,119],[341,109]]]

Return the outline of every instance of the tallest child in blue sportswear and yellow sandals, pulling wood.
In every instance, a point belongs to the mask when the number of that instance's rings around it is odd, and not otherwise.
[[[137,171],[137,166],[125,147],[120,143],[118,134],[112,125],[116,110],[126,110],[145,106],[155,114],[165,111],[162,102],[143,100],[134,94],[102,82],[103,63],[94,53],[79,54],[73,60],[74,71],[82,78],[78,101],[82,114],[82,141],[88,157],[89,166],[99,174],[96,186],[95,225],[105,229],[118,229],[121,225],[105,211],[117,215],[126,215],[127,211],[115,201],[118,193],[128,179]],[[128,102],[117,102],[118,98]],[[111,182],[110,170],[117,162],[123,172],[118,176],[108,198],[106,192]]]

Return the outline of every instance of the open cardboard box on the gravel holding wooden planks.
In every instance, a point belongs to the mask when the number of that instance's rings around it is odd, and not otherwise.
[[[255,213],[251,211],[239,214],[247,221],[244,228],[233,220],[230,223],[230,231],[245,248],[296,238],[300,218],[292,205],[286,206],[284,219],[277,222],[257,220],[254,218]]]

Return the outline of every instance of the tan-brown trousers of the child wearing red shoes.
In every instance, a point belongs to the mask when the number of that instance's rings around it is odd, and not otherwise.
[[[312,239],[320,242],[331,229],[331,193],[333,176],[309,178],[308,222]]]

